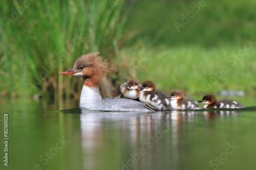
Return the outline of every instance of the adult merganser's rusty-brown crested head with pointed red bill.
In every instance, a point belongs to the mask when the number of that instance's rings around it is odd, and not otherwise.
[[[98,87],[100,80],[111,71],[111,64],[105,62],[98,56],[99,52],[82,55],[75,61],[73,68],[69,71],[60,72],[60,74],[81,76],[83,85],[89,87]]]

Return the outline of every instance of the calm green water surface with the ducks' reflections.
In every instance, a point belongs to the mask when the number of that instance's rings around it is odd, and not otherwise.
[[[0,169],[204,170],[256,165],[256,107],[139,113],[56,111],[58,106],[33,100],[0,103]]]

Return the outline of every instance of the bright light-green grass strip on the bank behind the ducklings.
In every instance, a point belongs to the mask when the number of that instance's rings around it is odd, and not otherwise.
[[[250,48],[243,57],[232,58],[240,49],[243,46],[125,48],[122,61],[128,60],[129,64],[123,66],[127,74],[122,77],[137,78],[140,82],[152,80],[166,93],[180,89],[186,94],[202,95],[233,89],[255,95],[256,50]],[[139,64],[141,56],[147,58],[145,65]]]

